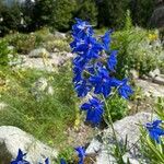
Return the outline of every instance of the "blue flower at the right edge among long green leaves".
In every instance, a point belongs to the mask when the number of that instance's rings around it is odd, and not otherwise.
[[[153,122],[148,122],[145,125],[150,138],[154,140],[156,143],[160,143],[161,142],[160,137],[164,136],[164,129],[160,127],[160,124],[162,124],[162,120],[154,120]]]

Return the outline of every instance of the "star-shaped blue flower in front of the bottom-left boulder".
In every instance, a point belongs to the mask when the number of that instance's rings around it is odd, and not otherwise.
[[[21,149],[19,149],[17,156],[11,162],[11,164],[30,164],[30,162],[24,160],[25,155],[26,153],[23,153]]]

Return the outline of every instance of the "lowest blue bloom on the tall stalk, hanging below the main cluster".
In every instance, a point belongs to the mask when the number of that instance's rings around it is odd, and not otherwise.
[[[102,120],[104,113],[104,104],[97,98],[93,97],[89,99],[89,103],[84,103],[81,106],[82,110],[86,110],[86,121],[92,122],[93,125],[98,125]]]

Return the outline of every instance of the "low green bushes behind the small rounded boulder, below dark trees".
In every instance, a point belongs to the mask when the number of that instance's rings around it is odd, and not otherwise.
[[[48,51],[55,48],[69,51],[68,42],[56,38],[48,28],[43,28],[31,34],[16,33],[3,38],[9,45],[14,46],[19,54],[28,54],[37,47],[45,47]],[[23,42],[22,42],[23,40]]]

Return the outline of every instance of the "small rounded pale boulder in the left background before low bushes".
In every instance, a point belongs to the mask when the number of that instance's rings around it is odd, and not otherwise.
[[[43,58],[43,57],[47,57],[47,58],[51,58],[50,54],[45,49],[45,48],[37,48],[32,50],[28,54],[30,58]]]

